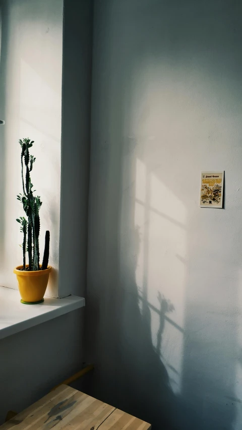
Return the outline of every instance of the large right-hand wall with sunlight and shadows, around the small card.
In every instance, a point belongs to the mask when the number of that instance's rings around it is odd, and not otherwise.
[[[154,430],[238,430],[241,6],[94,4],[93,394]],[[225,170],[223,210],[199,208],[200,172],[210,169]]]

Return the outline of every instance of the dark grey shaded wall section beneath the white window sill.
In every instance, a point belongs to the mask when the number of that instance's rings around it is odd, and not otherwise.
[[[35,326],[0,342],[0,424],[82,368],[83,310]]]

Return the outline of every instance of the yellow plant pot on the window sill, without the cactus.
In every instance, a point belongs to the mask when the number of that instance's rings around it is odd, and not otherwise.
[[[33,272],[20,270],[22,268],[23,266],[17,266],[14,269],[22,303],[41,303],[44,301],[43,297],[47,288],[51,267],[48,266],[45,270],[36,270]]]

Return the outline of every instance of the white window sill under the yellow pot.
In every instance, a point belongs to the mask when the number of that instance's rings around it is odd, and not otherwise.
[[[18,290],[0,286],[0,339],[85,306],[85,299],[45,297],[40,304],[20,303]]]

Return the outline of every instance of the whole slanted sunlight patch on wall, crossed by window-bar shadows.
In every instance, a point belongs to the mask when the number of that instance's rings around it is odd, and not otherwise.
[[[148,303],[153,347],[175,393],[181,389],[187,249],[186,208],[144,162],[136,162],[136,282],[140,310]]]

